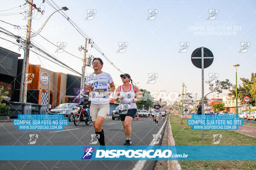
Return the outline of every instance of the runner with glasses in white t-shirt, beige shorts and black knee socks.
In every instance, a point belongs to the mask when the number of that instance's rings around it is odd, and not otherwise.
[[[115,85],[110,74],[102,72],[103,61],[101,58],[93,58],[94,74],[85,79],[87,94],[90,93],[90,115],[92,117],[95,133],[99,134],[100,145],[105,145],[105,136],[102,125],[109,115],[109,96],[115,91]],[[93,79],[92,79],[93,77]],[[108,84],[110,90],[108,91]]]

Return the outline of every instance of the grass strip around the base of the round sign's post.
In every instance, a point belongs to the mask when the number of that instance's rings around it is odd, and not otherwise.
[[[170,116],[175,145],[216,145],[212,144],[213,134],[221,134],[218,145],[256,145],[256,138],[229,130],[192,130],[187,120]],[[255,170],[256,161],[179,161],[183,170]]]

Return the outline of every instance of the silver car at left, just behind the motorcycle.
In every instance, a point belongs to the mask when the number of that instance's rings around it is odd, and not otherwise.
[[[74,115],[77,113],[77,103],[62,103],[52,109],[49,114],[63,114],[64,118],[74,121]]]

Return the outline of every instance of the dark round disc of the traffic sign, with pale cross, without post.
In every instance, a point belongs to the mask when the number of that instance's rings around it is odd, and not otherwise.
[[[213,54],[208,48],[204,47],[204,68],[212,65]],[[202,48],[196,48],[191,55],[191,61],[197,68],[202,68]]]

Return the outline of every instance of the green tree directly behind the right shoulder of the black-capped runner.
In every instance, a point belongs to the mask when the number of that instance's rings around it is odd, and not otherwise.
[[[137,101],[137,108],[138,109],[143,109],[144,108],[149,108],[151,105],[153,105],[153,97],[151,96],[150,92],[145,90],[145,89],[140,89],[141,93],[143,96]]]

